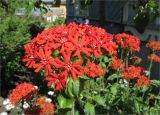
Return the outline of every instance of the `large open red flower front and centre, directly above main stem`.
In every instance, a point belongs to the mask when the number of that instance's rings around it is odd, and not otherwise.
[[[82,61],[80,62],[71,62],[71,52],[66,51],[62,53],[64,60],[56,58],[54,66],[56,68],[65,69],[66,74],[71,73],[71,77],[75,80],[78,76],[83,74],[83,67],[81,66]]]

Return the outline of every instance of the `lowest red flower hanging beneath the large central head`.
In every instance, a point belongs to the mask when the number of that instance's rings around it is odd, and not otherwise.
[[[60,72],[57,76],[55,74],[51,74],[51,77],[47,77],[46,80],[48,82],[48,87],[50,87],[53,83],[56,84],[56,91],[64,90],[66,88],[66,81],[67,81],[67,71]]]

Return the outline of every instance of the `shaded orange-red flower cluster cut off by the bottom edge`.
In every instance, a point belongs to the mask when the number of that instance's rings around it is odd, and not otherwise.
[[[25,110],[25,115],[53,115],[54,104],[47,102],[45,97],[37,99],[32,108]]]

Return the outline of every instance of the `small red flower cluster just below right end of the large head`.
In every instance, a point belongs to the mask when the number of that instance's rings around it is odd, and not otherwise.
[[[114,70],[117,70],[118,68],[123,69],[124,66],[125,66],[125,65],[124,65],[124,63],[122,62],[122,60],[121,60],[121,59],[118,59],[118,58],[116,58],[116,57],[112,60],[111,65],[110,65],[110,67],[111,67],[112,69],[114,69]]]

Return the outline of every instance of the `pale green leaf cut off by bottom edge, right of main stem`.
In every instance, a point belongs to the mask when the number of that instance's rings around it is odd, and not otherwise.
[[[86,103],[86,105],[85,105],[85,113],[86,113],[86,115],[95,115],[94,105],[92,105],[90,103]]]

